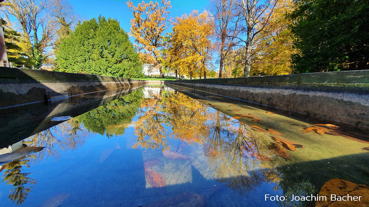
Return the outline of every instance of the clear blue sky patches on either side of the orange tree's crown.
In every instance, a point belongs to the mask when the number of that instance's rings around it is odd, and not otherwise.
[[[135,6],[141,3],[139,0],[132,1]],[[78,0],[69,1],[76,13],[86,19],[97,18],[99,15],[117,19],[120,27],[125,31],[130,31],[130,21],[132,13],[128,10],[125,0]],[[201,13],[208,6],[207,0],[174,0],[170,1],[172,8],[169,10],[169,17],[180,17],[182,14],[189,14],[192,10],[199,10]],[[172,29],[170,28],[170,31]]]

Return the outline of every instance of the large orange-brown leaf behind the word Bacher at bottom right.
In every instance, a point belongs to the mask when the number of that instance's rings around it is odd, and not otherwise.
[[[331,200],[331,195],[336,195],[336,200]],[[343,201],[342,199],[337,199],[338,196],[361,196],[360,201]],[[328,180],[322,186],[319,196],[326,196],[327,200],[322,199],[315,201],[315,206],[369,206],[369,187],[366,185],[359,185],[356,183],[349,182],[342,179],[331,179]],[[345,198],[346,200],[347,198]],[[339,201],[342,200],[342,201]]]

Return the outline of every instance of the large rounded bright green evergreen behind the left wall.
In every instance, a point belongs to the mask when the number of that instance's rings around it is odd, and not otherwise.
[[[56,53],[58,71],[142,78],[142,63],[128,34],[117,20],[99,17],[79,23],[61,39]]]

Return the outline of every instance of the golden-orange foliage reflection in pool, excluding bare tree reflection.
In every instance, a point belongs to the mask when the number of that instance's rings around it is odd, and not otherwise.
[[[175,91],[162,91],[141,103],[135,122],[138,136],[134,148],[169,148],[167,138],[179,138],[189,144],[200,143],[208,136],[206,106]],[[169,130],[171,129],[171,130]]]

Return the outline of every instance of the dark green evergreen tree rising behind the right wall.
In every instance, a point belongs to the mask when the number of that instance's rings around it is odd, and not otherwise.
[[[368,0],[297,0],[295,73],[369,69]]]

